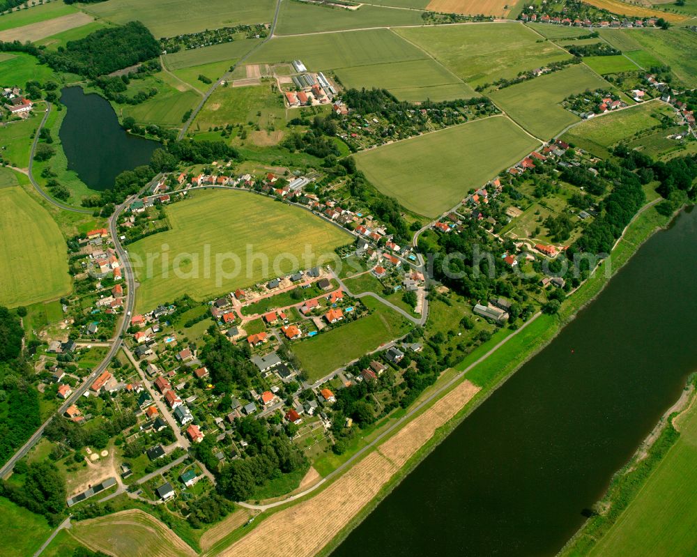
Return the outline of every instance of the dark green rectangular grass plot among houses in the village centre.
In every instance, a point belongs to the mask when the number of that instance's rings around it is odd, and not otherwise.
[[[342,365],[405,335],[411,324],[373,298],[362,303],[374,310],[367,317],[333,328],[291,346],[309,381],[316,381]]]

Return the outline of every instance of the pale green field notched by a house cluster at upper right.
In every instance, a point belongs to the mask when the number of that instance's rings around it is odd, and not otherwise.
[[[528,82],[494,91],[491,98],[528,132],[549,139],[579,117],[558,103],[586,89],[609,89],[604,79],[583,64],[576,64]]]

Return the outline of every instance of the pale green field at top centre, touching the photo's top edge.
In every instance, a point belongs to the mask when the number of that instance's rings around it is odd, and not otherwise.
[[[394,10],[364,4],[358,10],[330,8],[307,3],[286,1],[281,3],[276,33],[298,35],[318,31],[343,31],[397,25],[421,25],[421,12]]]

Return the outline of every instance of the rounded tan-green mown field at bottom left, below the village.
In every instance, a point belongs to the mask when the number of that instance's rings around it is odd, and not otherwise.
[[[196,553],[178,535],[138,509],[78,522],[70,532],[93,550],[114,557],[185,557]]]

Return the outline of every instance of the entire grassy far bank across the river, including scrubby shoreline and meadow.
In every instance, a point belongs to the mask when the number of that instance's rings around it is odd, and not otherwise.
[[[680,450],[680,441],[685,435],[691,437],[685,443],[694,445],[694,422],[697,421],[696,386],[697,374],[693,374],[687,382],[683,396],[680,397],[680,404],[673,405],[666,411],[654,431],[637,449],[634,457],[613,475],[606,495],[593,509],[594,516],[590,517],[581,530],[569,540],[560,551],[560,557],[602,555],[608,550],[607,546],[616,546],[618,540],[623,544],[629,538],[634,538],[635,546],[641,545],[642,541],[636,539],[640,532],[648,535],[648,539],[643,540],[644,554],[654,555],[657,549],[666,549],[664,544],[668,538],[673,540],[673,544],[681,545],[681,538],[691,536],[691,524],[696,517],[680,508],[681,503],[686,502],[680,499],[691,498],[689,491],[694,483],[685,477],[680,464],[676,466],[669,459],[669,455]],[[688,455],[689,466],[694,470],[694,460],[691,456]],[[664,469],[664,478],[658,478],[661,468]],[[654,484],[660,485],[654,487]],[[687,491],[684,498],[676,497],[675,490],[680,489],[680,486],[684,486]],[[659,503],[663,512],[657,513],[653,508],[657,505],[657,498],[663,499]],[[680,524],[684,527],[680,528]],[[676,531],[686,531],[687,534],[681,536]],[[649,532],[650,534],[646,534]],[[656,542],[657,538],[662,538],[662,541]],[[650,547],[652,542],[658,547]],[[673,547],[671,554],[687,554],[682,553],[682,550],[689,550],[690,544],[691,542],[687,542],[684,547]],[[637,555],[636,549],[625,549],[627,555]]]

